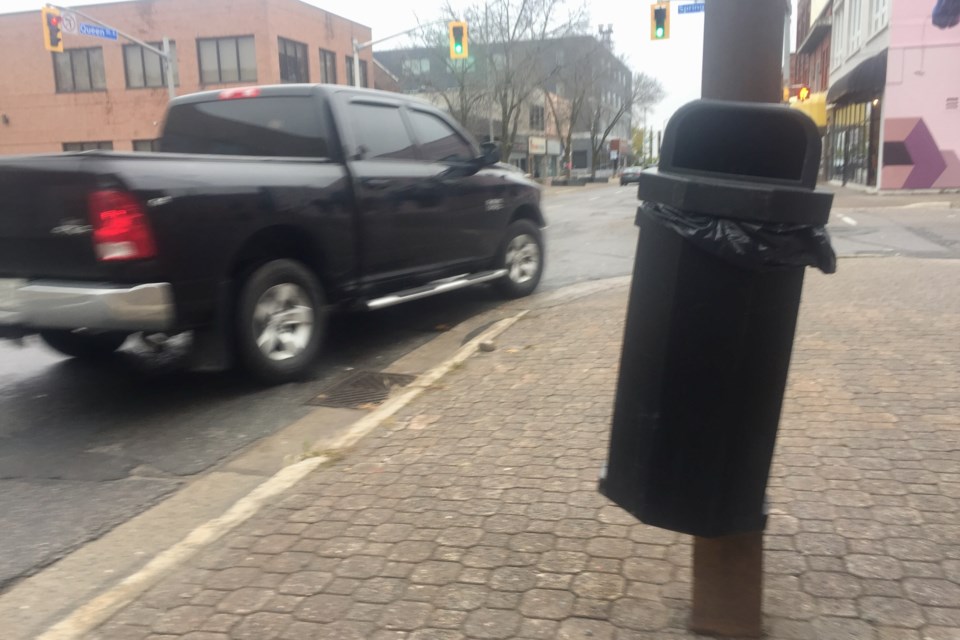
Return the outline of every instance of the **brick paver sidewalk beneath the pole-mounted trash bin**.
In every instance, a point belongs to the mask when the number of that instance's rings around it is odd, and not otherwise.
[[[689,539],[596,491],[626,294],[531,314],[94,637],[694,637]],[[810,272],[770,638],[960,637],[958,388],[960,262]]]

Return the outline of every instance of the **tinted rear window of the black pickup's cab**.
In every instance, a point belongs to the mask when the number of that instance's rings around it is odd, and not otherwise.
[[[244,98],[177,105],[160,150],[168,153],[328,158],[325,105],[312,96]]]

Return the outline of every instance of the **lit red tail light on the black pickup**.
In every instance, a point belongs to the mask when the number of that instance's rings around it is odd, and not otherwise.
[[[90,194],[89,203],[98,260],[143,260],[157,255],[147,216],[132,193],[95,191]]]

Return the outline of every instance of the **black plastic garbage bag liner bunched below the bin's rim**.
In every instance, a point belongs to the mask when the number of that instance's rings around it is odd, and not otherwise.
[[[837,255],[823,225],[715,218],[654,202],[644,202],[637,210],[637,222],[645,219],[660,223],[702,251],[741,267],[809,266],[824,273],[837,270]]]

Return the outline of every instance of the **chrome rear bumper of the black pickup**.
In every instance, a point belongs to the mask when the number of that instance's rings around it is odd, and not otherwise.
[[[31,329],[164,331],[174,323],[169,283],[135,286],[0,278],[0,337]]]

